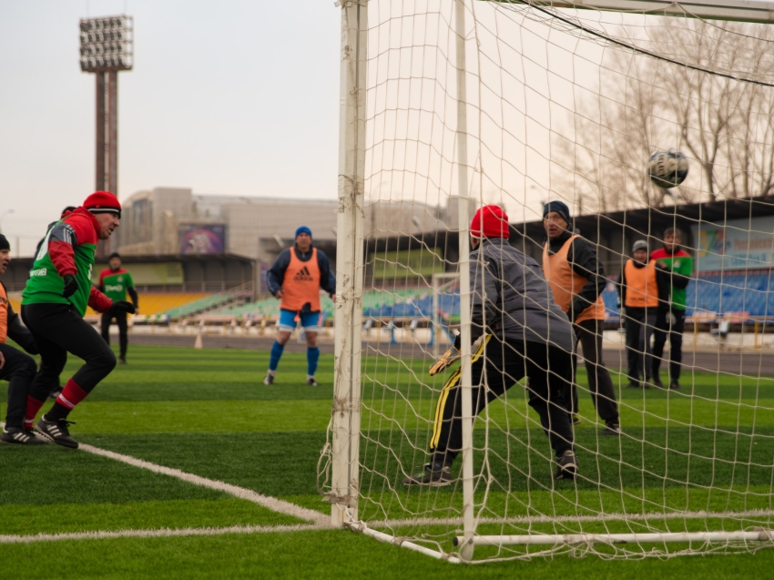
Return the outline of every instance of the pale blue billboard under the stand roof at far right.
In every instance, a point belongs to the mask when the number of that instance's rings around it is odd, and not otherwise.
[[[774,216],[700,222],[691,229],[696,240],[697,271],[774,267]]]

